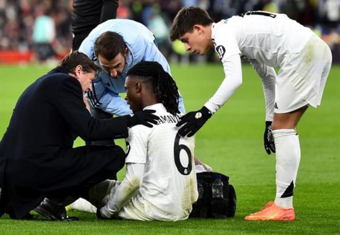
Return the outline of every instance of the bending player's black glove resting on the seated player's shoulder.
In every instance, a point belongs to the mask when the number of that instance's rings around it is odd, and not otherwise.
[[[211,116],[212,112],[205,106],[198,111],[188,112],[186,115],[181,117],[181,121],[176,124],[177,127],[184,124],[184,126],[178,130],[178,133],[182,136],[186,136],[187,134],[188,137],[193,136]]]

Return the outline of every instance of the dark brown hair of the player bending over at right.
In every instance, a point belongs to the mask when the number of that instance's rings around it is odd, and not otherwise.
[[[183,7],[176,15],[170,27],[170,41],[179,39],[186,33],[193,31],[193,25],[207,26],[212,24],[208,12],[198,6]]]

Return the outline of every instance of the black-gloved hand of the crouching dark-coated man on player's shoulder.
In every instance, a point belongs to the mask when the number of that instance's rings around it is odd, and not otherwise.
[[[127,126],[130,128],[136,125],[144,125],[146,127],[152,128],[150,123],[157,124],[157,120],[159,119],[158,116],[152,114],[154,112],[156,111],[147,109],[144,111],[137,111],[133,113],[132,116],[127,115]]]

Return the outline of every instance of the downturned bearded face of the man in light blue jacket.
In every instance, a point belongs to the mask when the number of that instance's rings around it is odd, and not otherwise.
[[[126,64],[127,48],[125,54],[119,53],[112,60],[106,60],[101,55],[98,55],[98,60],[103,70],[108,73],[112,78],[118,78],[124,70]]]

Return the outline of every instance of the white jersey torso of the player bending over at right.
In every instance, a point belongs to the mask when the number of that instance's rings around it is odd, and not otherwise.
[[[252,11],[212,23],[212,41],[222,63],[234,54],[242,61],[282,67],[314,33],[285,14]]]

